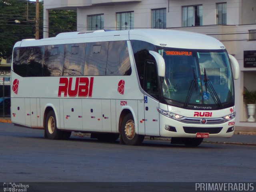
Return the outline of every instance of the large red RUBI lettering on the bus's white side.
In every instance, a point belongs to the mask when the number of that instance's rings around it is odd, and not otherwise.
[[[93,77],[90,78],[90,81],[87,77],[77,77],[74,89],[72,90],[73,78],[61,77],[58,97],[61,97],[62,93],[64,93],[64,97],[92,97],[93,80]]]

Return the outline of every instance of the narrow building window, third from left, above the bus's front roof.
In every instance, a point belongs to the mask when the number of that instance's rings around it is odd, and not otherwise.
[[[166,28],[166,8],[152,10],[151,27],[154,29],[165,29]]]

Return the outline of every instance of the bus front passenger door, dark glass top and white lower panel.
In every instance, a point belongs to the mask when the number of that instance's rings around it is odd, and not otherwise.
[[[146,60],[144,80],[145,133],[149,136],[160,136],[159,131],[159,86],[156,62]]]

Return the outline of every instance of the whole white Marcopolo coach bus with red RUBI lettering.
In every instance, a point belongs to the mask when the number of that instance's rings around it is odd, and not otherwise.
[[[233,70],[233,72],[232,72]],[[236,59],[203,34],[178,30],[68,32],[17,42],[11,115],[49,139],[71,132],[141,144],[198,146],[234,134]]]

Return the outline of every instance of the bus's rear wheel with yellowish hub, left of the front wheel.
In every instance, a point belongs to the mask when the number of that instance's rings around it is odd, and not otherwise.
[[[61,139],[63,132],[56,127],[56,116],[53,111],[49,111],[44,124],[44,132],[48,139]]]

